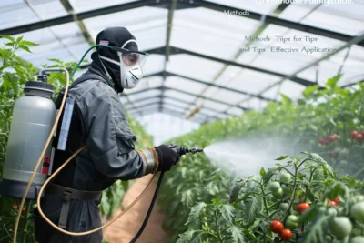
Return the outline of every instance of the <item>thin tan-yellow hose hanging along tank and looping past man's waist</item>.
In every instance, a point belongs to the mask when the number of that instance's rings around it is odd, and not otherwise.
[[[17,216],[16,216],[16,220],[15,220],[15,228],[14,228],[14,238],[13,238],[13,243],[16,243],[16,237],[17,237],[17,229],[19,227],[19,221],[20,221],[20,216],[21,216],[21,213],[22,213],[22,208],[24,207],[24,204],[25,204],[25,198],[26,198],[26,195],[28,194],[29,192],[29,189],[32,185],[32,182],[34,180],[34,177],[35,177],[35,174],[36,174],[36,171],[38,170],[41,162],[42,162],[42,159],[45,155],[45,150],[46,148],[48,147],[50,141],[52,140],[52,137],[53,135],[55,134],[55,130],[56,130],[56,127],[57,127],[57,124],[58,124],[58,121],[59,121],[59,117],[61,116],[61,111],[63,110],[64,106],[65,106],[65,102],[66,102],[66,96],[68,94],[68,86],[69,86],[69,74],[68,74],[68,71],[65,69],[65,68],[60,68],[59,70],[62,70],[63,72],[65,72],[66,74],[66,88],[65,88],[65,94],[63,96],[63,99],[62,99],[62,103],[61,103],[61,106],[59,108],[59,112],[58,114],[56,115],[56,120],[55,120],[55,123],[52,127],[52,130],[49,134],[49,137],[48,139],[46,140],[45,142],[45,147],[43,148],[43,151],[35,165],[35,169],[33,171],[33,174],[32,176],[30,177],[29,179],[29,182],[25,188],[25,193],[23,195],[23,198],[22,198],[22,202],[20,203],[20,206],[19,206],[19,209],[18,209],[18,212],[17,212]],[[104,226],[101,226],[99,228],[94,228],[92,230],[89,230],[89,231],[86,231],[86,232],[80,232],[80,233],[76,233],[76,232],[70,232],[70,231],[67,231],[63,228],[59,228],[57,227],[51,220],[49,220],[48,218],[46,218],[45,214],[43,213],[42,211],[42,208],[40,206],[40,199],[42,197],[42,194],[43,194],[43,191],[45,190],[45,187],[50,183],[50,181],[56,177],[56,175],[64,168],[66,167],[66,165],[74,158],[76,157],[84,148],[84,147],[80,147],[71,157],[69,157],[66,162],[61,166],[59,167],[44,183],[44,185],[41,187],[39,193],[38,193],[38,197],[36,198],[36,203],[37,203],[37,207],[38,207],[38,211],[39,211],[39,214],[41,215],[42,218],[45,219],[45,221],[50,224],[53,228],[56,228],[56,230],[64,233],[64,234],[67,234],[67,235],[71,235],[71,236],[85,236],[85,235],[88,235],[88,234],[92,234],[98,230],[101,230],[103,228],[106,228],[108,227],[109,225],[111,225],[112,223],[114,223],[118,218],[122,217],[130,208],[132,208],[136,203],[137,201],[140,200],[141,197],[144,196],[144,194],[147,192],[147,188],[151,185],[153,179],[156,177],[157,174],[153,174],[153,177],[150,179],[150,181],[148,182],[147,184],[147,187],[140,193],[140,195],[138,197],[136,197],[136,199],[133,201],[133,203],[131,203],[123,212],[121,212],[120,214],[118,214],[116,216],[116,218],[114,218],[113,220],[111,220],[110,222],[106,223],[106,225]]]

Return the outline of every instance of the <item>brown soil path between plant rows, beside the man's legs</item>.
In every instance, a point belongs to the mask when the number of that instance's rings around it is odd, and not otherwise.
[[[126,208],[134,199],[139,196],[142,190],[147,186],[151,176],[137,179],[136,182],[127,190],[123,200],[123,206]],[[157,179],[154,179],[153,185],[149,187],[146,195],[142,197],[136,205],[131,208],[124,216],[116,220],[114,224],[107,227],[104,231],[104,238],[109,243],[129,243],[136,235],[137,230],[143,223],[149,208],[150,201],[153,197],[157,185]],[[117,209],[115,215],[119,214],[121,209]],[[166,243],[167,233],[163,230],[162,225],[166,216],[160,211],[159,206],[153,208],[152,214],[144,229],[143,234],[136,243]]]

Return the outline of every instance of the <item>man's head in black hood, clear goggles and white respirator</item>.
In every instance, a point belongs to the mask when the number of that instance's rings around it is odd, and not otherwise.
[[[136,37],[123,27],[106,28],[97,35],[96,44],[112,46],[98,46],[97,53],[99,63],[113,79],[117,91],[136,87],[147,60],[147,53],[138,51]]]

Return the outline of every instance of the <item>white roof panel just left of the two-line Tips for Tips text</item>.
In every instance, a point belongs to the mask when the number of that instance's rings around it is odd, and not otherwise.
[[[179,10],[174,15],[171,45],[227,59],[258,25],[256,20],[206,8]]]

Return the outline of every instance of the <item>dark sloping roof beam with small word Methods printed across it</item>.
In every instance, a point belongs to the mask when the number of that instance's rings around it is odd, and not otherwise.
[[[219,12],[226,12],[226,11],[238,11],[238,12],[240,12],[240,11],[245,11],[244,9],[241,9],[241,8],[228,6],[228,5],[219,5],[219,4],[216,4],[216,3],[202,1],[202,0],[194,0],[193,4],[198,5],[198,6],[202,6],[202,7],[206,7],[208,9],[216,10],[216,11],[219,11]],[[331,30],[328,30],[328,29],[315,27],[315,26],[312,26],[312,25],[300,24],[300,23],[297,23],[297,22],[289,21],[289,20],[278,18],[278,17],[271,16],[271,15],[258,14],[258,13],[253,12],[253,11],[249,11],[249,15],[238,15],[238,16],[247,17],[247,18],[250,18],[250,19],[258,20],[258,21],[260,21],[261,19],[264,19],[264,22],[267,23],[267,24],[278,25],[278,26],[282,26],[282,27],[286,27],[286,28],[295,29],[295,30],[299,30],[299,31],[302,31],[302,32],[314,34],[314,35],[321,35],[321,36],[325,36],[325,37],[328,37],[328,38],[332,38],[332,39],[336,39],[336,40],[340,40],[340,41],[344,41],[344,42],[349,42],[353,37],[355,37],[355,36],[352,36],[352,35],[346,35],[346,34],[331,31]],[[357,43],[357,45],[364,47],[364,41],[361,41],[361,42]]]

